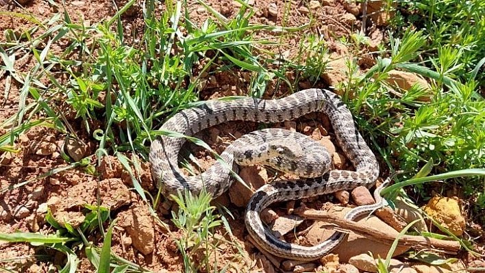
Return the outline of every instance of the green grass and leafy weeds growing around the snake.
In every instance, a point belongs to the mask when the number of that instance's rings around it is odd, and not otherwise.
[[[192,22],[182,1],[165,1],[162,14],[156,13],[155,1],[147,1],[142,10],[145,29],[130,35],[125,34],[120,16],[134,0],[120,7],[119,13],[110,20],[88,27],[73,21],[66,12],[45,21],[29,14],[0,12],[1,16],[24,18],[33,25],[21,34],[5,30],[7,42],[0,44],[0,69],[6,83],[3,99],[8,98],[12,83],[22,86],[18,112],[0,123],[0,128],[8,128],[0,135],[0,151],[18,153],[18,135],[32,127],[50,127],[66,138],[75,139],[84,127],[90,140],[96,142],[98,162],[105,155],[118,157],[132,178],[134,191],[149,205],[153,219],[166,226],[156,213],[162,196],[146,192],[139,181],[140,160],[147,160],[153,138],[169,133],[156,130],[164,120],[180,109],[197,104],[207,75],[247,72],[251,79],[245,92],[262,97],[271,82],[276,83],[276,88],[284,87],[290,92],[298,91],[301,81],[321,83],[319,76],[328,63],[325,41],[309,31],[314,21],[301,27],[286,25],[290,16],[289,1],[285,2],[281,27],[251,25],[255,10],[245,1],[238,0],[241,7],[232,19],[225,18],[203,1],[198,2],[211,16],[201,25]],[[447,183],[463,187],[471,203],[473,220],[484,224],[484,171],[479,168],[485,166],[485,103],[480,94],[485,81],[482,73],[485,5],[480,1],[394,3],[398,5],[390,27],[393,32],[387,43],[380,44],[380,52],[374,53],[375,66],[360,73],[358,57],[347,60],[349,79],[336,89],[342,92],[364,137],[388,170],[408,172],[403,182],[383,192],[397,194],[406,186],[408,193],[425,200],[430,192],[423,183],[446,179]],[[49,1],[49,5],[55,3]],[[412,12],[403,12],[402,7],[411,7]],[[260,37],[257,33],[268,36],[256,38]],[[301,36],[301,33],[305,34]],[[131,44],[126,40],[128,36],[140,40]],[[291,60],[278,51],[268,50],[269,46],[283,48],[285,41],[295,36],[300,38],[299,49]],[[62,53],[54,53],[53,45],[61,42],[69,46]],[[360,34],[342,38],[341,42],[348,44],[353,52],[365,52],[366,38]],[[35,62],[27,73],[15,69],[17,62],[29,57]],[[386,79],[395,69],[422,75],[430,81],[431,89],[414,86],[399,90],[390,86]],[[287,73],[295,79],[287,79]],[[423,96],[429,101],[421,101],[419,98]],[[100,125],[93,127],[92,120],[99,120]],[[207,147],[198,140],[189,140]],[[74,162],[69,155],[63,156],[68,166],[50,170],[37,179],[79,167],[95,174],[94,166],[90,165],[94,155],[79,162]],[[431,176],[416,178],[423,167]],[[31,182],[24,181],[2,191]],[[219,211],[221,216],[218,216],[209,204],[210,198],[204,194],[186,194],[175,200],[179,211],[173,213],[173,222],[183,234],[177,237],[176,243],[184,258],[185,270],[218,268],[209,257],[216,253],[214,249],[221,242],[212,242],[209,238],[216,228],[224,227],[230,233],[225,213]],[[110,253],[112,226],[108,228],[108,212],[101,207],[87,209],[90,217],[80,230],[69,228],[69,224],[61,226],[51,221],[48,214],[48,222],[56,235],[1,236],[3,240],[42,244],[64,252],[66,265],[58,265],[64,272],[77,267],[81,249],[99,272],[110,268],[116,268],[117,272],[141,271],[132,262]],[[88,242],[85,233],[101,233],[105,238],[103,247]],[[60,241],[51,242],[51,239]],[[206,259],[195,263],[195,254],[199,251],[206,251]]]

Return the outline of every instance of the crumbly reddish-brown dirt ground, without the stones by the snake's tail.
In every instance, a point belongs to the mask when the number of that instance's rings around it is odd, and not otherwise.
[[[34,14],[40,21],[45,18],[50,18],[53,14],[58,12],[56,8],[49,5],[48,1],[18,1],[23,5],[20,8],[16,3],[10,0],[0,0],[0,10],[22,12]],[[115,1],[118,8],[122,7],[126,1]],[[206,20],[208,12],[204,10],[203,6],[197,1],[188,1],[190,16],[194,23],[200,24]],[[208,0],[206,1],[212,8],[219,11],[224,16],[232,18],[236,15],[238,10],[238,3],[229,0]],[[250,1],[251,2],[251,1]],[[360,10],[358,5],[354,5],[342,0],[323,0],[323,1],[271,1],[258,0],[252,1],[251,5],[256,10],[256,16],[253,16],[252,23],[262,25],[285,25],[286,27],[298,27],[310,22],[310,15],[313,20],[318,22],[306,29],[305,31],[314,31],[327,40],[327,46],[331,53],[336,56],[344,56],[349,54],[352,49],[347,49],[341,44],[336,43],[336,39],[340,37],[349,37],[349,34],[360,29]],[[289,16],[283,17],[285,3],[290,3]],[[116,12],[116,8],[112,1],[100,0],[86,0],[86,1],[66,1],[66,10],[71,15],[73,21],[83,20],[87,24],[98,23],[106,18],[110,18]],[[160,11],[163,6],[159,7]],[[374,8],[374,11],[378,8]],[[275,12],[276,10],[276,12]],[[368,8],[369,14],[373,13],[372,7]],[[386,16],[382,12],[374,12],[371,18],[371,25],[368,25],[369,36],[373,38],[372,44],[378,44],[383,34],[380,30],[386,25]],[[0,16],[0,30],[3,33],[5,29],[27,29],[29,22],[25,19],[14,16]],[[123,26],[125,29],[138,29],[138,33],[142,33],[143,21],[142,10],[140,5],[136,4],[129,12],[123,16]],[[126,31],[129,33],[130,31]],[[131,32],[133,33],[133,31]],[[261,36],[268,36],[267,33],[258,34]],[[136,37],[127,37],[129,39],[136,39]],[[276,37],[266,37],[277,40]],[[0,37],[0,42],[5,42],[5,37]],[[129,42],[128,42],[129,43]],[[281,52],[286,57],[297,55],[299,45],[299,36],[291,36],[279,47],[268,47],[267,49],[273,52]],[[62,47],[58,50],[62,51]],[[351,52],[350,52],[351,53]],[[371,55],[370,55],[371,56]],[[25,59],[23,62],[16,63],[16,69],[27,73],[32,67],[33,60]],[[372,56],[369,59],[362,58],[360,66],[362,69],[369,68],[373,65]],[[228,95],[242,95],[247,94],[247,84],[240,79],[245,79],[249,75],[245,73],[220,73],[216,75],[216,82],[201,90],[201,99],[213,99],[220,96]],[[332,85],[332,81],[338,79],[335,77],[324,78],[321,86],[327,87]],[[47,79],[46,79],[47,80]],[[266,92],[266,96],[284,96],[288,94],[284,86],[277,86],[274,83]],[[310,83],[301,81],[300,88],[308,88]],[[0,94],[4,94],[5,77],[0,75]],[[10,118],[16,114],[18,110],[18,96],[20,94],[20,86],[18,83],[13,83],[8,97],[1,100],[0,107],[0,122]],[[64,105],[64,107],[66,107]],[[86,129],[75,122],[75,114],[66,108],[66,116],[75,125],[75,131],[85,145],[82,149],[82,154],[91,155],[95,153],[96,143]],[[101,125],[93,124],[92,127],[100,127]],[[285,123],[278,125],[279,127],[289,127],[297,129],[311,135],[312,138],[322,142],[334,141],[332,137],[332,129],[328,125],[325,118],[317,118],[315,116],[306,116],[295,123]],[[199,137],[208,142],[217,152],[223,151],[227,146],[227,142],[238,138],[238,136],[253,131],[257,125],[251,122],[244,122],[239,124],[229,124],[214,127],[212,129],[203,131]],[[7,132],[8,129],[0,128],[0,135]],[[160,219],[169,226],[172,233],[168,233],[162,224],[157,223],[150,216],[147,205],[141,200],[140,196],[132,191],[132,179],[129,172],[127,172],[122,164],[114,157],[104,157],[101,160],[101,166],[97,167],[100,177],[96,177],[86,168],[74,168],[65,170],[56,174],[51,174],[48,177],[39,178],[41,174],[52,170],[54,168],[61,168],[68,164],[62,159],[60,153],[61,148],[66,141],[66,135],[49,129],[47,127],[36,127],[29,130],[27,133],[20,136],[16,141],[16,148],[19,153],[8,155],[5,154],[0,157],[0,187],[5,189],[23,183],[21,187],[15,187],[13,190],[1,192],[0,194],[0,233],[13,233],[15,231],[31,231],[40,233],[51,232],[51,226],[45,221],[45,214],[47,207],[49,207],[56,219],[69,220],[71,224],[80,223],[84,220],[82,207],[88,203],[91,205],[97,204],[97,196],[100,196],[101,204],[108,207],[111,211],[112,218],[118,218],[113,234],[112,250],[117,255],[133,261],[141,265],[143,268],[153,270],[155,272],[180,272],[182,271],[182,256],[177,250],[177,246],[173,242],[173,236],[177,237],[179,231],[172,224],[170,217],[164,213],[164,209],[156,211]],[[75,144],[73,144],[75,146]],[[195,146],[188,146],[194,151],[197,158],[203,167],[210,166],[212,159],[208,152],[201,151]],[[351,168],[350,163],[345,156],[336,149],[336,156],[340,168]],[[128,155],[132,157],[132,155]],[[336,160],[334,157],[334,160]],[[92,159],[92,165],[97,165],[97,158]],[[138,170],[142,187],[156,194],[156,188],[153,187],[151,174],[149,171],[149,163],[142,162],[141,168]],[[383,168],[384,169],[384,168]],[[271,173],[261,175],[260,168],[249,168],[245,170],[247,176],[253,177],[256,172],[257,177],[263,177],[263,180],[271,179]],[[268,178],[269,177],[269,178]],[[265,179],[264,179],[265,178]],[[257,179],[256,179],[257,180]],[[261,182],[261,181],[260,181]],[[259,183],[256,181],[255,183]],[[99,190],[99,191],[98,191]],[[229,265],[230,272],[236,271],[261,271],[262,268],[269,271],[271,265],[268,259],[261,255],[260,252],[254,248],[250,242],[247,241],[247,231],[244,229],[244,222],[242,220],[244,213],[244,206],[247,200],[238,200],[237,194],[240,189],[229,191],[216,201],[226,205],[229,211],[234,215],[234,219],[229,219],[229,225],[232,228],[232,236],[227,235],[223,229],[217,231],[221,237],[226,237],[234,244],[222,244],[217,248],[216,259],[219,261],[219,266],[223,267]],[[244,198],[243,198],[244,199]],[[322,207],[325,197],[319,200],[312,200],[310,206]],[[308,205],[308,204],[307,204]],[[284,206],[283,206],[284,207]],[[285,209],[278,207],[275,209],[277,213],[282,213]],[[99,233],[93,233],[87,239],[101,246],[102,237]],[[238,251],[235,245],[242,246],[242,253]],[[0,243],[0,261],[4,259],[15,258],[8,263],[9,267],[18,266],[16,270],[19,272],[48,272],[51,270],[48,263],[42,262],[42,255],[53,257],[53,261],[58,261],[56,264],[62,264],[65,259],[64,255],[49,249],[39,249],[29,244],[8,244]],[[79,265],[79,272],[94,272],[95,268],[86,259],[84,252],[77,253],[81,257],[81,264]],[[467,262],[467,255],[462,257]],[[40,257],[40,258],[39,258]]]

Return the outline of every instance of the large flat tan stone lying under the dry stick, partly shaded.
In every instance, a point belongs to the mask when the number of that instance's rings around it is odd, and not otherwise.
[[[336,216],[343,217],[351,208],[349,207],[338,207],[334,206],[329,209],[328,213]],[[399,233],[395,231],[392,227],[388,226],[385,222],[377,218],[376,216],[362,216],[358,218],[357,222],[360,224],[366,224],[378,229],[380,231],[386,232],[390,235],[397,236]],[[316,244],[321,244],[325,239],[328,239],[334,234],[334,229],[328,229],[329,224],[319,221],[314,224],[308,231],[306,238],[308,242],[315,246]],[[406,252],[409,246],[397,246],[393,256],[401,255]],[[375,257],[380,255],[380,257],[386,257],[390,249],[390,244],[384,242],[376,242],[373,239],[368,239],[361,235],[356,235],[355,233],[349,233],[347,239],[345,239],[340,245],[337,246],[332,253],[338,255],[340,263],[346,263],[349,261],[350,257],[360,255],[362,253],[372,252]]]

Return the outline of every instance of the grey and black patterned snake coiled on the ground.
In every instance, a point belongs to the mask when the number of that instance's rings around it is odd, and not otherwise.
[[[201,174],[187,176],[179,169],[178,156],[182,145],[188,137],[203,129],[233,120],[266,124],[284,122],[313,112],[327,115],[337,143],[351,161],[354,170],[329,170],[330,156],[313,144],[304,144],[304,141],[310,143],[311,138],[282,129],[264,129],[243,135],[227,146],[219,155],[219,160]],[[337,94],[325,89],[301,90],[282,99],[242,97],[204,101],[171,116],[160,127],[160,131],[162,133],[158,138],[151,142],[149,161],[153,180],[164,196],[186,191],[199,194],[204,190],[216,198],[235,181],[233,173],[238,173],[238,162],[251,164],[253,157],[260,157],[263,164],[285,172],[303,168],[298,174],[300,179],[273,181],[260,187],[251,196],[245,211],[245,226],[256,244],[267,252],[286,259],[319,259],[343,242],[346,234],[335,232],[332,237],[316,246],[283,242],[266,229],[260,220],[259,214],[264,208],[279,201],[331,194],[358,186],[371,188],[380,173],[377,159],[356,129],[349,108]],[[288,147],[294,146],[294,143],[303,143],[300,145],[303,151],[290,148],[288,152]],[[279,156],[286,153],[295,154]],[[276,157],[271,158],[274,155]],[[291,161],[293,158],[297,162],[304,162],[303,157],[309,158],[309,163],[302,163],[303,167]],[[380,197],[379,193],[380,189],[375,190],[376,200],[377,196]],[[353,220],[379,206],[382,206],[381,199],[377,200],[376,205],[354,208],[345,218]]]

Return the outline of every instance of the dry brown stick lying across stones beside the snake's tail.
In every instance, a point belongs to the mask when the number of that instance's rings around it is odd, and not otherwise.
[[[341,228],[350,230],[353,233],[373,237],[373,239],[377,242],[392,244],[395,240],[395,235],[384,233],[366,224],[360,224],[358,222],[345,220],[338,216],[333,216],[325,211],[317,211],[315,209],[306,209],[304,207],[300,207],[295,210],[295,213],[304,218],[332,222],[333,224],[337,224]],[[453,253],[456,253],[458,252],[458,250],[460,250],[460,243],[456,241],[447,241],[442,239],[412,235],[403,235],[402,237],[400,237],[399,245],[412,246],[413,248],[440,248],[442,250]]]

